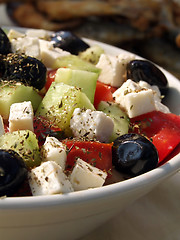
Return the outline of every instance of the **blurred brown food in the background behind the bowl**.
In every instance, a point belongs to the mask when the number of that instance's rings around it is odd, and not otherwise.
[[[70,29],[152,60],[180,78],[178,0],[7,1],[5,10],[21,27]]]

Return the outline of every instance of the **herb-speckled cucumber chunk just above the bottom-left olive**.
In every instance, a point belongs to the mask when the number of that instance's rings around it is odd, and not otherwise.
[[[23,158],[27,168],[39,166],[40,151],[36,135],[29,130],[14,131],[0,137],[0,149],[12,149]]]

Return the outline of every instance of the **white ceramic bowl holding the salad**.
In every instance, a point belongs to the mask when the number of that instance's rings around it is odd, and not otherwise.
[[[101,46],[115,55],[122,51],[107,44]],[[166,103],[173,113],[180,114],[180,81],[164,72],[170,86]],[[148,173],[102,188],[64,195],[1,199],[0,239],[78,239],[119,214],[179,169],[180,154]]]

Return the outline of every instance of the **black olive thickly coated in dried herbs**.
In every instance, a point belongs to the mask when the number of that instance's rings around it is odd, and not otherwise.
[[[46,83],[45,65],[36,58],[10,53],[1,57],[1,78],[3,80],[22,82],[41,90]]]

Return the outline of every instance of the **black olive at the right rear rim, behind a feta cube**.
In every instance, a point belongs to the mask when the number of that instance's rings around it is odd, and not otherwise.
[[[132,60],[127,64],[127,79],[134,82],[141,80],[150,85],[157,85],[162,93],[166,93],[168,81],[164,73],[152,62],[147,60]]]

